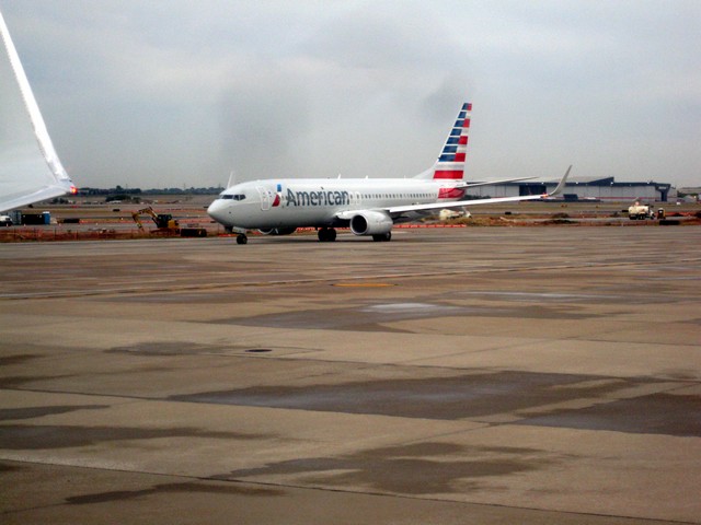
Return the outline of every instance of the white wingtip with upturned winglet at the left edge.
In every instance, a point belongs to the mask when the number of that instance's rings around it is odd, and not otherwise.
[[[0,13],[0,211],[76,194]]]

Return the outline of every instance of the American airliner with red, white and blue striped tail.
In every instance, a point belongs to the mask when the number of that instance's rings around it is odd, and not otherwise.
[[[464,206],[543,199],[562,192],[570,170],[550,194],[492,199],[458,200],[474,186],[525,180],[521,177],[486,183],[463,179],[472,104],[463,103],[440,156],[412,178],[279,178],[253,180],[225,189],[207,213],[237,243],[246,244],[246,230],[289,235],[298,228],[314,228],[321,242],[336,240],[336,228],[382,242],[392,238],[392,226],[432,210]]]

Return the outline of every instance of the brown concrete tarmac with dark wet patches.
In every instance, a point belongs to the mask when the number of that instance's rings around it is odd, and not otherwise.
[[[700,234],[0,245],[0,521],[701,523]]]

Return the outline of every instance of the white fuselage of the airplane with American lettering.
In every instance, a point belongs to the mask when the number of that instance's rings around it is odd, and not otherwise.
[[[451,183],[421,178],[253,180],[225,190],[207,212],[230,228],[327,228],[340,225],[337,214],[344,211],[455,200],[461,191],[455,198],[443,198],[440,192]]]

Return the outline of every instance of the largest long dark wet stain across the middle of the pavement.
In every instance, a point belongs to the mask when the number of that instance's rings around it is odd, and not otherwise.
[[[379,380],[310,386],[251,387],[172,396],[171,399],[404,418],[456,420],[590,398],[630,387],[599,377],[497,372],[453,377]],[[577,386],[582,383],[582,386]],[[562,388],[566,385],[567,388]]]

